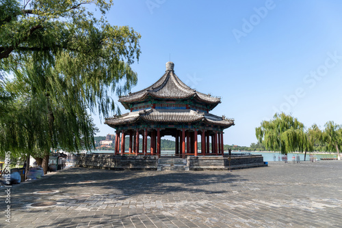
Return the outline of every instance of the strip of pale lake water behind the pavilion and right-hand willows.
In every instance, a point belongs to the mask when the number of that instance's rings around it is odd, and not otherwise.
[[[94,153],[112,153],[114,154],[114,151],[112,150],[94,150]],[[128,153],[128,151],[126,151]],[[228,153],[228,152],[227,152]],[[264,162],[271,162],[274,161],[274,155],[276,156],[276,161],[278,161],[278,155],[279,153],[272,153],[272,152],[232,152],[232,154],[241,154],[241,153],[250,153],[250,154],[261,154],[263,156]],[[163,150],[161,151],[161,155],[172,155],[174,154],[174,151],[168,151]],[[226,154],[226,152],[224,153]],[[313,154],[317,160],[320,160],[321,158],[337,158],[337,154]],[[288,162],[292,162],[292,156],[293,154],[287,154],[287,160]],[[294,154],[294,156],[297,156],[297,154]],[[304,153],[299,154],[300,160],[304,160]],[[281,160],[281,155],[280,155]],[[310,160],[310,154],[306,154],[306,160]]]

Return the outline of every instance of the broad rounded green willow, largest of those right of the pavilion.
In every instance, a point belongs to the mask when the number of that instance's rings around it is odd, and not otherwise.
[[[304,124],[285,113],[276,113],[270,121],[261,122],[255,132],[257,139],[266,149],[281,154],[303,152],[308,145]]]

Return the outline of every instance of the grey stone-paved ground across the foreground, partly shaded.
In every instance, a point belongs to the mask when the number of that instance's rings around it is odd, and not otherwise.
[[[342,227],[341,171],[337,160],[233,172],[70,168],[13,186],[11,223],[1,210],[0,227]],[[57,204],[30,206],[47,201]]]

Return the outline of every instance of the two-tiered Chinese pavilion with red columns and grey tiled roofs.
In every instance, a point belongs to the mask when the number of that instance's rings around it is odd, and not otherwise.
[[[105,119],[116,129],[115,154],[161,155],[161,137],[175,137],[175,155],[223,155],[223,130],[234,119],[210,114],[220,98],[202,94],[185,85],[174,74],[174,63],[166,63],[166,72],[146,89],[122,96],[119,101],[129,113]],[[125,137],[129,152],[125,153]],[[142,150],[139,140],[142,135]],[[147,138],[150,137],[150,148]],[[198,151],[200,138],[201,150]],[[211,148],[210,148],[211,143]]]

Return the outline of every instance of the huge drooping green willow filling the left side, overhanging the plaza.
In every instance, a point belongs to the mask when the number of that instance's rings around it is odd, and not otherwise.
[[[0,117],[1,132],[12,137],[2,137],[0,149],[36,149],[47,167],[50,148],[90,145],[94,128],[86,124],[92,122],[87,110],[100,117],[118,110],[109,91],[120,96],[136,84],[130,65],[140,55],[140,34],[109,25],[111,1],[95,1],[101,18],[88,12],[89,0],[0,1],[0,72],[14,75],[7,88],[16,94],[12,112]],[[32,115],[19,118],[27,110]],[[21,127],[32,118],[39,127]],[[15,135],[8,119],[18,127]]]

